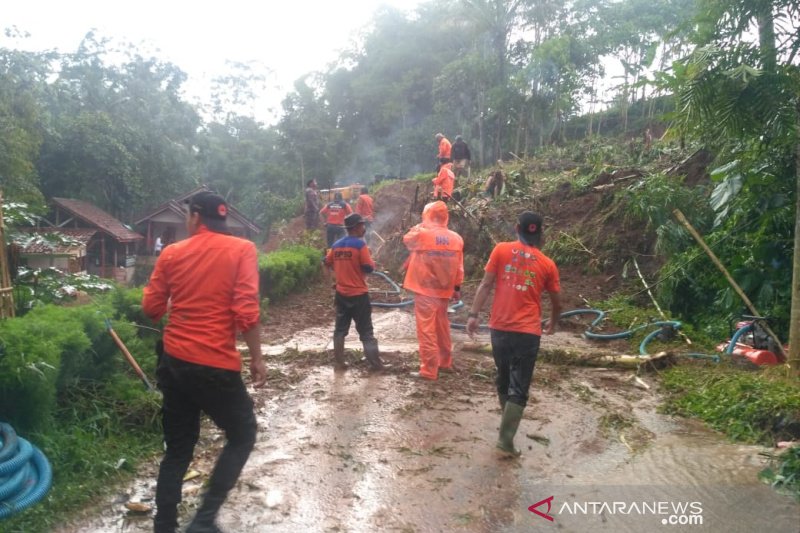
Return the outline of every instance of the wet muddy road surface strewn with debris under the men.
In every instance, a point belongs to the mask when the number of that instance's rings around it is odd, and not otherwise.
[[[392,365],[380,374],[367,371],[352,335],[353,365],[334,372],[323,318],[265,347],[259,440],[221,511],[226,531],[800,530],[800,506],[757,480],[763,450],[657,414],[652,375],[540,363],[517,435],[523,456],[502,459],[491,357],[463,349],[456,332],[456,372],[419,381],[408,376],[417,364],[410,311],[377,311],[374,322]],[[608,349],[570,331],[543,338],[543,352],[565,346]],[[204,428],[183,523],[222,441]],[[60,531],[151,530],[151,515],[126,504],[152,506],[156,468]]]

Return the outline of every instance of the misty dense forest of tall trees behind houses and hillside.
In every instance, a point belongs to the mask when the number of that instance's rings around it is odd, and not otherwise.
[[[89,32],[74,52],[0,49],[0,179],[9,200],[73,197],[122,220],[208,184],[269,225],[296,214],[310,178],[432,171],[438,131],[463,135],[488,166],[654,128],[713,154],[715,188],[693,222],[732,236],[723,261],[788,324],[799,30],[798,0],[384,7],[326,71],[295,82],[270,125],[231,111],[252,101],[255,74],[217,80],[201,108],[179,66]],[[710,275],[686,274],[677,311],[720,297]]]

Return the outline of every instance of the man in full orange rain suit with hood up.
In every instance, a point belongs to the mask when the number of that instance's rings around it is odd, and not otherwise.
[[[419,340],[419,376],[437,379],[439,369],[453,366],[453,344],[447,304],[461,297],[464,280],[464,241],[447,229],[447,205],[425,206],[422,223],[403,237],[411,252],[403,286],[414,292],[414,314]]]

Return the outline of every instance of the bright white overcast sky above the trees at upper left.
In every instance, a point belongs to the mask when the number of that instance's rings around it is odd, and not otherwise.
[[[0,46],[74,52],[96,29],[100,37],[133,43],[180,67],[189,76],[184,88],[190,101],[208,96],[210,80],[229,72],[226,61],[247,63],[270,73],[270,88],[245,113],[270,123],[293,82],[336,59],[381,4],[411,12],[421,2],[13,0],[3,3],[0,29],[15,26],[30,37],[2,35]]]

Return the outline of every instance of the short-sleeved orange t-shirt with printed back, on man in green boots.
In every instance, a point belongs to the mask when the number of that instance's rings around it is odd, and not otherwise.
[[[542,292],[561,290],[553,260],[521,241],[501,242],[484,270],[496,276],[489,327],[541,335]]]

